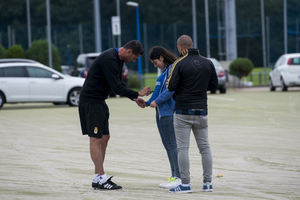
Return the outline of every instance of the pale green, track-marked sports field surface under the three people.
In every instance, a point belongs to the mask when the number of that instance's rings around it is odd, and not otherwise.
[[[91,189],[94,169],[77,107],[4,104],[0,199],[300,199],[300,88],[208,95],[214,159],[210,193],[202,192],[201,157],[193,135],[193,193],[171,194],[158,187],[171,172],[155,110],[141,109],[127,98],[111,98],[107,104],[111,139],[104,169],[123,190]]]

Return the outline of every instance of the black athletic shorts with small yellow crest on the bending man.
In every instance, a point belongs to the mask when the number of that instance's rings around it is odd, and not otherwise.
[[[82,135],[102,138],[109,135],[108,118],[110,112],[106,103],[88,103],[79,100],[78,105]]]

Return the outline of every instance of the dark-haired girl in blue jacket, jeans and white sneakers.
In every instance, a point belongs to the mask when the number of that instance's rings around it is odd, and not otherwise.
[[[171,166],[172,176],[167,182],[160,184],[159,187],[174,188],[181,184],[181,180],[179,179],[177,143],[173,125],[175,100],[172,98],[172,95],[174,92],[167,91],[166,81],[172,69],[172,64],[177,60],[177,57],[162,46],[154,46],[149,51],[149,59],[154,64],[154,67],[164,70],[156,80],[156,86],[151,98],[146,102],[146,106],[156,110],[158,131]]]

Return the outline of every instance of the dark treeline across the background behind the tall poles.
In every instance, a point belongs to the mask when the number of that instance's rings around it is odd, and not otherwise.
[[[162,45],[176,51],[176,37],[192,37],[192,9],[190,0],[137,0],[140,4],[141,39],[143,23],[147,24],[148,47]],[[250,58],[255,66],[262,66],[260,0],[235,0],[238,57]],[[122,45],[136,39],[135,9],[120,0]],[[67,64],[67,44],[71,46],[72,64],[79,54],[78,25],[82,24],[84,52],[95,52],[93,0],[51,0],[52,42],[58,47],[61,64]],[[270,61],[284,53],[283,0],[265,0],[265,16],[269,17]],[[300,13],[299,0],[287,0],[288,52],[296,52],[296,18]],[[32,40],[46,38],[46,1],[30,0]],[[100,1],[102,49],[112,47],[111,16],[116,15],[116,1]],[[196,1],[198,48],[206,56],[204,0]],[[217,46],[217,0],[209,0],[211,56],[220,59]],[[28,48],[26,0],[0,0],[0,44],[8,47],[7,26],[15,33],[15,43]],[[174,29],[176,28],[176,29]],[[176,30],[174,32],[174,30]],[[117,42],[116,42],[117,43]],[[146,49],[145,49],[146,52]],[[177,52],[176,52],[177,53]],[[143,59],[144,65],[144,59]],[[129,67],[134,68],[136,64]],[[151,69],[152,67],[150,67]]]

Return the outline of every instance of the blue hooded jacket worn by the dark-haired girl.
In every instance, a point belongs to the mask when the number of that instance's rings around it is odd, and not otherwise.
[[[172,64],[167,66],[161,75],[158,76],[154,92],[146,103],[147,106],[150,106],[151,102],[155,100],[155,103],[158,105],[156,112],[158,112],[160,117],[171,116],[174,111],[175,100],[172,97],[174,91],[170,92],[166,87],[166,81],[169,78],[171,68]]]

